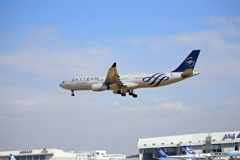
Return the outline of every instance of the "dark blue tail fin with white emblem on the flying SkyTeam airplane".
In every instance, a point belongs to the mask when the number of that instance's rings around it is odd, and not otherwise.
[[[200,50],[193,50],[182,64],[172,72],[185,72],[187,69],[194,69]]]

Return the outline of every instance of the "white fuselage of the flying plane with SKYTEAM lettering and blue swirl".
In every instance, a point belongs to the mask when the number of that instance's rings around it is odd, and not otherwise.
[[[182,77],[183,72],[139,74],[139,75],[121,75],[120,79],[124,84],[121,89],[131,90],[137,88],[161,87],[182,81],[186,78],[199,74],[193,72],[192,75]],[[63,81],[60,87],[67,90],[92,90],[93,84],[104,84],[106,76],[76,77]],[[110,84],[109,90],[118,90],[117,84]]]

